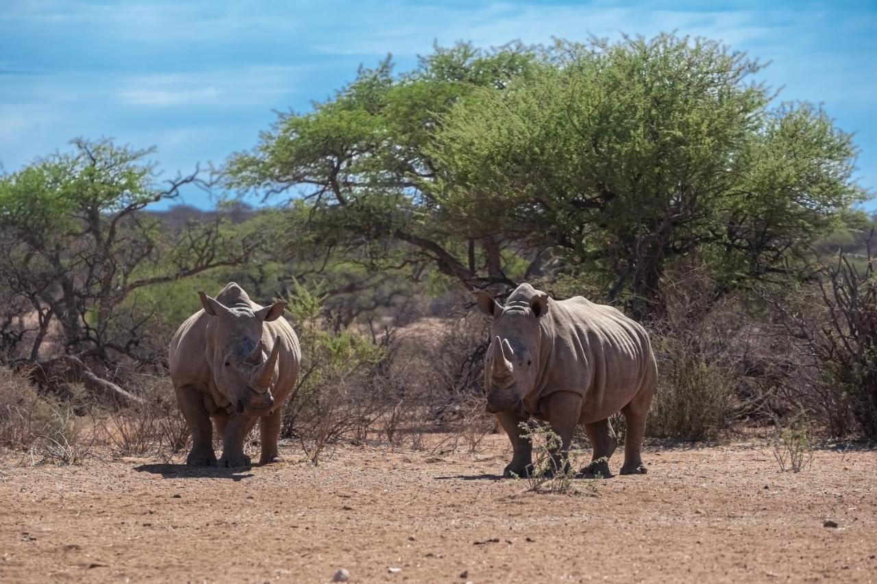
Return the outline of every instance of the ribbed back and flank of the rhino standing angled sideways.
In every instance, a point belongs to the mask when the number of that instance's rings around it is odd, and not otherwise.
[[[648,335],[621,311],[576,296],[552,301],[545,317],[542,331],[548,342],[543,343],[547,351],[537,385],[539,400],[555,391],[578,393],[581,422],[595,422],[623,408],[639,388],[653,382]]]

